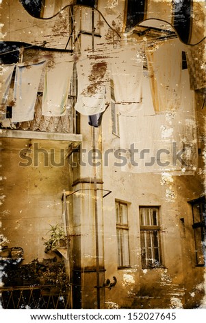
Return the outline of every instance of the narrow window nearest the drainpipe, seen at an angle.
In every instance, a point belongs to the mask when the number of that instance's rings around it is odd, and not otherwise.
[[[116,236],[118,243],[118,268],[129,267],[129,225],[127,203],[116,201]]]

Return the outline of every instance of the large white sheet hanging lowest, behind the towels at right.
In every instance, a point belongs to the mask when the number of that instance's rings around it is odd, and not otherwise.
[[[136,115],[119,115],[120,148],[124,149],[122,155],[125,157],[124,164],[117,161],[121,170],[194,174],[198,155],[194,92],[190,90],[188,69],[181,71],[179,86],[181,98],[178,109],[146,115],[146,101],[143,100],[142,109]],[[185,152],[181,153],[183,148]]]

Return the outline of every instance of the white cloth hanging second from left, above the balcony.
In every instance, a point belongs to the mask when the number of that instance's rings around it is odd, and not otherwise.
[[[44,61],[33,65],[16,65],[12,122],[34,119],[34,107]]]

